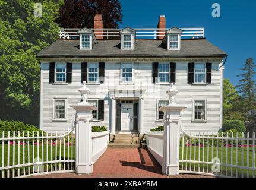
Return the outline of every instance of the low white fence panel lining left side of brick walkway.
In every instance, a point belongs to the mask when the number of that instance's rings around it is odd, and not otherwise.
[[[109,142],[109,131],[93,132],[93,163],[106,151]]]

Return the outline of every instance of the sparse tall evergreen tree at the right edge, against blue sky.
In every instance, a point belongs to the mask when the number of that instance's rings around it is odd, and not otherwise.
[[[242,79],[239,80],[239,85],[237,85],[237,87],[242,98],[245,100],[244,108],[246,111],[251,110],[256,103],[256,85],[254,81],[254,76],[256,74],[255,68],[256,65],[254,64],[253,59],[248,58],[246,59],[244,67],[240,69],[241,71],[244,71],[244,73],[238,75],[238,77],[242,77]]]

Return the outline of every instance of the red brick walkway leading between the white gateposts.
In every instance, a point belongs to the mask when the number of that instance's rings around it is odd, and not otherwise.
[[[56,173],[31,178],[213,178],[203,175],[162,175],[162,167],[146,149],[108,148],[93,166],[92,175]]]

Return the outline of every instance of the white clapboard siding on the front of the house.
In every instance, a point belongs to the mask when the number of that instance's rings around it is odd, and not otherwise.
[[[187,107],[181,113],[182,123],[187,131],[218,131],[220,128],[220,70],[219,62],[212,65],[212,83],[208,85],[191,85],[187,82],[188,62],[176,62],[175,88],[179,91],[176,102]],[[104,99],[104,121],[93,122],[93,125],[107,126],[110,129],[109,113],[110,99],[109,88],[127,87],[120,82],[120,63],[105,62],[105,82],[103,84],[87,84],[91,93],[89,99]],[[134,63],[134,88],[146,89],[144,94],[144,131],[149,131],[162,122],[157,122],[157,99],[167,99],[166,90],[170,85],[152,83],[152,62]],[[78,88],[81,84],[81,63],[73,62],[71,84],[49,83],[49,62],[42,62],[42,121],[43,130],[62,130],[71,127],[74,122],[75,110],[69,107],[80,102]],[[53,98],[67,98],[67,121],[52,121]],[[192,99],[207,99],[207,122],[191,122]]]

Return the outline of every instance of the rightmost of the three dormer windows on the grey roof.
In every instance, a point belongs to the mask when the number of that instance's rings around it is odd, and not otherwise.
[[[163,37],[163,43],[167,46],[168,50],[181,49],[181,33],[182,30],[177,27],[166,31],[165,37]]]

